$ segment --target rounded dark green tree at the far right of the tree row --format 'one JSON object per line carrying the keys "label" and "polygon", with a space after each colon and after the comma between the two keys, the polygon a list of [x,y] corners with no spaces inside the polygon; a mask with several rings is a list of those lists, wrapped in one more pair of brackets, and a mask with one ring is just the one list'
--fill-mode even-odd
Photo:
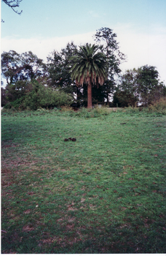
{"label": "rounded dark green tree at the far right of the tree row", "polygon": [[159,81],[159,72],[156,67],[145,65],[138,69],[127,70],[119,78],[113,105],[127,107],[140,103],[147,106],[160,97],[165,97],[165,85]]}

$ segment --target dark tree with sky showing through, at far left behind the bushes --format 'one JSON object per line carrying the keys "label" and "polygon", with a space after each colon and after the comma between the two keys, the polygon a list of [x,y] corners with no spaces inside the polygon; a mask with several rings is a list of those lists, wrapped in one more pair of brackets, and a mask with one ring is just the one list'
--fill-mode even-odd
{"label": "dark tree with sky showing through, at far left behind the bushes", "polygon": [[18,54],[14,50],[1,54],[1,74],[7,80],[4,94],[8,102],[15,101],[31,91],[29,81],[46,83],[47,66],[31,51]]}

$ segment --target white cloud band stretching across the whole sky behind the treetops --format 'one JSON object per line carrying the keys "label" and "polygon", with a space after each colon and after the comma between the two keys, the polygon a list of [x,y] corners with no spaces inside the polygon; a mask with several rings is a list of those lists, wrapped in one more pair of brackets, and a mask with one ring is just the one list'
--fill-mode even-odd
{"label": "white cloud band stretching across the whole sky behind the treetops", "polygon": [[[121,65],[122,72],[126,69],[133,69],[143,65],[157,67],[160,79],[166,83],[166,32],[165,28],[154,28],[154,34],[143,34],[136,32],[130,24],[118,25],[114,28],[117,34],[120,50],[127,55],[127,62]],[[94,43],[92,35],[95,31],[87,34],[76,34],[70,37],[53,38],[31,38],[31,39],[12,39],[9,37],[1,39],[1,52],[15,50],[23,53],[31,50],[39,58],[47,61],[47,56],[53,51],[60,51],[65,48],[68,42],[73,41],[76,45],[86,42]]]}

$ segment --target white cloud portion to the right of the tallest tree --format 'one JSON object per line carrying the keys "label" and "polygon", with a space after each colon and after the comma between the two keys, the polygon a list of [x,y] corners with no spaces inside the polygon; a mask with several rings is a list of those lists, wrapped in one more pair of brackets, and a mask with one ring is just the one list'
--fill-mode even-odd
{"label": "white cloud portion to the right of the tallest tree", "polygon": [[115,30],[120,50],[127,55],[123,71],[148,64],[157,67],[160,79],[166,84],[166,29],[155,27],[154,34],[138,33],[130,25]]}

